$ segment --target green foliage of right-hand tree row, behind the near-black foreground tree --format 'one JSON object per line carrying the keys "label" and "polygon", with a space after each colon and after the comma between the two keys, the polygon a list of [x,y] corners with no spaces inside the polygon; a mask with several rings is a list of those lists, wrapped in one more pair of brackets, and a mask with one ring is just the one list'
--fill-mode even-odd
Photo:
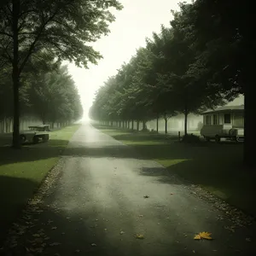
{"label": "green foliage of right-hand tree row, behind the near-black foreground tree", "polygon": [[[192,5],[180,6],[171,27],[161,26],[160,34],[147,38],[146,47],[137,49],[98,91],[91,118],[147,121],[183,113],[187,119],[189,113],[224,103],[219,86],[207,81],[206,68],[198,61],[193,26],[188,26]],[[186,125],[184,129],[186,133]]]}

